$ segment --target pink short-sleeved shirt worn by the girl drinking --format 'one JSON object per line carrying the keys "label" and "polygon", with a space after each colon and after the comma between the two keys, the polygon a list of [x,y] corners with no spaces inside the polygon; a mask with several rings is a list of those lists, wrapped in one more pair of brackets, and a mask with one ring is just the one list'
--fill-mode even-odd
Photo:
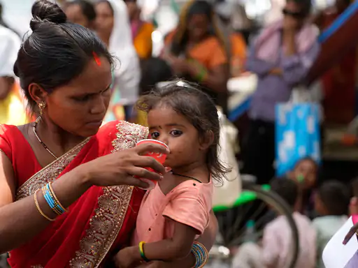
{"label": "pink short-sleeved shirt worn by the girl drinking", "polygon": [[132,244],[173,237],[174,221],[189,225],[202,234],[209,223],[212,198],[211,181],[208,184],[194,180],[184,181],[167,195],[164,195],[157,184],[143,198]]}

